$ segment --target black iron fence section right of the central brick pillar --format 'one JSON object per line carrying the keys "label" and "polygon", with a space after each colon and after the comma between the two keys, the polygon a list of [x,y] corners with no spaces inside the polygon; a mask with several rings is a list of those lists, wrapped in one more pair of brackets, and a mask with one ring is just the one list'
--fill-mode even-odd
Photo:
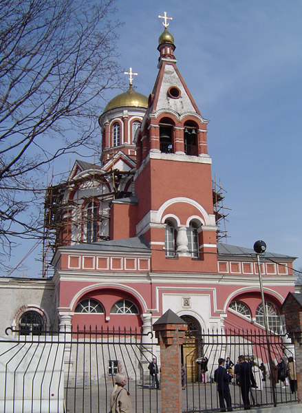
{"label": "black iron fence section right of the central brick pillar", "polygon": [[[234,368],[239,355],[244,355],[252,366],[252,372],[257,387],[251,388],[249,393],[251,407],[279,405],[281,403],[297,403],[296,392],[291,391],[288,377],[280,380],[281,358],[288,363],[288,357],[294,359],[294,346],[286,335],[269,334],[246,330],[228,330],[227,332],[187,332],[182,348],[183,364],[187,372],[186,392],[183,396],[183,412],[210,412],[220,411],[219,397],[214,372],[218,367],[218,359],[230,357],[233,362],[230,373],[230,394],[233,410],[243,409],[241,389],[238,377],[235,377]],[[192,348],[192,340],[198,343]],[[272,363],[270,363],[269,350]],[[200,361],[208,359],[206,383],[202,382]],[[263,363],[263,364],[261,364]],[[279,364],[279,368],[278,365]],[[279,379],[278,379],[279,370]],[[194,372],[198,372],[197,377]],[[271,379],[272,377],[272,379]],[[184,392],[183,392],[184,393]]]}

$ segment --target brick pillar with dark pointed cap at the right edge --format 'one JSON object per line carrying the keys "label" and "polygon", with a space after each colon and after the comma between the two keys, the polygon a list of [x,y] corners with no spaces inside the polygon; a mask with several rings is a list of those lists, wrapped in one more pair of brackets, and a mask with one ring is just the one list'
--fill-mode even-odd
{"label": "brick pillar with dark pointed cap at the right edge", "polygon": [[298,401],[302,403],[302,294],[288,293],[281,309],[285,315],[288,336],[294,344]]}

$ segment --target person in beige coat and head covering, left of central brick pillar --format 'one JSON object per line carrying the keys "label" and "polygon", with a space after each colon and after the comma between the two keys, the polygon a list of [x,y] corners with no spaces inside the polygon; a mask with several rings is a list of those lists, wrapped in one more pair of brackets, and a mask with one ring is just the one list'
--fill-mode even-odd
{"label": "person in beige coat and head covering, left of central brick pillar", "polygon": [[110,407],[112,413],[131,413],[130,393],[125,389],[127,378],[124,374],[116,374],[116,384],[111,393]]}

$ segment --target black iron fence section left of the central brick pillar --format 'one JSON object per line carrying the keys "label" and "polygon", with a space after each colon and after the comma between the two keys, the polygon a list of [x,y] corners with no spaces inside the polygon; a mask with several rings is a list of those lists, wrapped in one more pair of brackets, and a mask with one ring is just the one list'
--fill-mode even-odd
{"label": "black iron fence section left of the central brick pillar", "polygon": [[0,411],[107,413],[114,375],[122,372],[133,412],[158,413],[160,392],[151,390],[148,370],[153,349],[151,333],[138,331],[89,329],[2,337]]}

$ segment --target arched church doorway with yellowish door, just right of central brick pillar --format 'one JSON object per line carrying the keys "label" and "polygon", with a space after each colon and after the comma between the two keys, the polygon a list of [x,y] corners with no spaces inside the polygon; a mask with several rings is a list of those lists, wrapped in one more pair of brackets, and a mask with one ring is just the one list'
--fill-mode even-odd
{"label": "arched church doorway with yellowish door, just right of central brick pillar", "polygon": [[182,315],[181,318],[188,324],[182,345],[182,364],[186,368],[186,379],[188,382],[198,381],[199,365],[196,361],[203,356],[200,324],[190,315]]}

